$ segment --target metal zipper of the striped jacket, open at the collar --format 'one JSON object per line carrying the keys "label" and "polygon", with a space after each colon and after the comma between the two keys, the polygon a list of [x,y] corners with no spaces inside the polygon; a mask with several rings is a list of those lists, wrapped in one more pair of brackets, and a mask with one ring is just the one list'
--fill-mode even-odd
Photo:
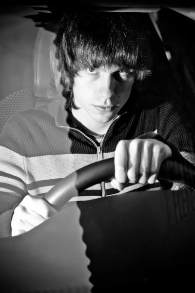
{"label": "metal zipper of the striped jacket, open at the collar", "polygon": [[[86,137],[94,146],[96,146],[97,148],[97,153],[98,153],[98,162],[103,160],[103,152],[102,152],[102,147],[103,147],[103,143],[105,141],[105,138],[111,128],[111,126],[113,125],[113,123],[118,120],[122,115],[124,115],[125,113],[127,112],[124,112],[123,114],[119,115],[118,117],[116,117],[112,123],[110,124],[110,126],[108,127],[106,133],[104,134],[104,137],[103,137],[103,140],[100,144],[100,146],[98,146],[89,136],[87,136],[84,132],[82,132],[81,130],[77,129],[77,128],[74,128],[74,127],[70,127],[70,126],[59,126],[59,127],[64,127],[64,128],[68,128],[68,129],[73,129],[73,130],[76,130],[78,131],[79,133],[81,133],[84,137]],[[105,187],[105,181],[102,181],[101,182],[101,196],[102,197],[106,197],[106,187]]]}

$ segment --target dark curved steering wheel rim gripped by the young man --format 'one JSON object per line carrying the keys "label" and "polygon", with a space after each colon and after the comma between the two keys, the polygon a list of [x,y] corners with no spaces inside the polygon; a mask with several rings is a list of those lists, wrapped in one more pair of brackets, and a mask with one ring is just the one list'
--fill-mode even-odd
{"label": "dark curved steering wheel rim gripped by the young man", "polygon": [[[57,209],[60,209],[75,194],[101,181],[111,180],[114,176],[114,158],[102,160],[82,167],[61,179],[45,194],[44,199]],[[179,161],[172,158],[166,159],[161,164],[157,179],[171,182],[177,181],[180,184],[185,184],[186,190],[195,190],[195,166],[183,157]]]}

